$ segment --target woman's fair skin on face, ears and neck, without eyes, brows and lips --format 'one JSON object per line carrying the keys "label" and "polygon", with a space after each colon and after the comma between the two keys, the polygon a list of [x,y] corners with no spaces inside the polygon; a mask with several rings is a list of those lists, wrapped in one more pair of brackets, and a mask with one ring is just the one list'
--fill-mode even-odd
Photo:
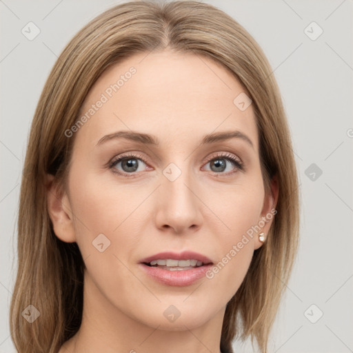
{"label": "woman's fair skin on face, ears and neck, without eyes, brows and lips", "polygon": [[[192,250],[218,263],[275,207],[276,183],[273,200],[263,187],[252,105],[241,111],[233,103],[244,92],[239,82],[218,63],[194,54],[146,55],[113,65],[94,84],[81,114],[131,66],[137,70],[75,132],[65,190],[48,185],[54,232],[62,241],[77,242],[86,266],[82,324],[59,353],[219,353],[225,305],[262,245],[259,236],[249,238],[212,279],[191,285],[159,283],[139,261]],[[121,130],[152,134],[159,145],[121,138],[97,145]],[[205,134],[226,130],[242,132],[252,145],[241,138],[201,144]],[[123,163],[110,169],[108,162],[125,152],[138,155],[130,157],[137,171]],[[245,168],[219,154],[240,159]],[[181,170],[174,181],[163,174],[170,163]],[[268,234],[271,223],[261,231]],[[103,252],[92,245],[99,234],[110,240]],[[180,312],[175,321],[163,314],[170,305]]]}

